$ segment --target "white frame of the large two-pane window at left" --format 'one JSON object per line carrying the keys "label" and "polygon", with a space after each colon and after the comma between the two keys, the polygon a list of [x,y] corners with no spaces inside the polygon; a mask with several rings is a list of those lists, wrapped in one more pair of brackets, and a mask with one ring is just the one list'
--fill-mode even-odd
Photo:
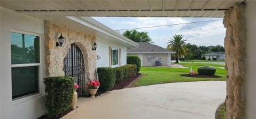
{"label": "white frame of the large two-pane window at left", "polygon": [[[38,66],[38,93],[31,93],[28,95],[24,95],[22,97],[17,97],[15,99],[12,99],[12,105],[22,103],[24,101],[28,101],[30,99],[35,99],[37,97],[43,96],[42,92],[42,80],[43,80],[43,35],[39,33],[32,33],[30,31],[22,31],[18,29],[11,29],[11,33],[20,33],[20,34],[25,34],[25,35],[34,35],[39,37],[39,63],[26,63],[26,64],[11,64],[11,67],[31,67],[31,66]],[[10,34],[11,35],[11,34]],[[11,41],[11,36],[10,36],[10,41]],[[11,44],[10,44],[11,46]],[[12,79],[11,79],[12,80]],[[12,86],[12,85],[11,85]]]}

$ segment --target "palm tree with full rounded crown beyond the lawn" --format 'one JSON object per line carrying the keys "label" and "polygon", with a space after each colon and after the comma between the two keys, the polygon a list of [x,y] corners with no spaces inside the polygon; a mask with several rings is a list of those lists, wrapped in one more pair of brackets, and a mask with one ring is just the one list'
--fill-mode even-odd
{"label": "palm tree with full rounded crown beyond the lawn", "polygon": [[173,50],[176,52],[176,63],[179,63],[178,58],[179,56],[186,56],[188,53],[188,48],[186,48],[186,40],[183,39],[183,35],[173,35],[173,39],[169,40],[167,45],[167,50]]}

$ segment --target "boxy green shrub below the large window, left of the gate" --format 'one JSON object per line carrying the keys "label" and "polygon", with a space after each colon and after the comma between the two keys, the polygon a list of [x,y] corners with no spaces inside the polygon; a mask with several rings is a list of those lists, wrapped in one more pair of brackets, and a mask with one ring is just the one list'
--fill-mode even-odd
{"label": "boxy green shrub below the large window, left of the gate", "polygon": [[73,99],[75,80],[68,76],[44,78],[45,108],[49,118],[69,109]]}

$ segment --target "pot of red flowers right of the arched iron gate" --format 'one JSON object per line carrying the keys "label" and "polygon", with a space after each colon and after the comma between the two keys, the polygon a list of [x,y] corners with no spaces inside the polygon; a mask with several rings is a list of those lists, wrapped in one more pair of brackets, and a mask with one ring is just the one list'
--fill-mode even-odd
{"label": "pot of red flowers right of the arched iron gate", "polygon": [[89,93],[91,94],[91,97],[94,98],[98,90],[98,86],[100,86],[100,82],[98,82],[98,80],[89,80],[89,83],[86,84],[86,86],[89,88]]}

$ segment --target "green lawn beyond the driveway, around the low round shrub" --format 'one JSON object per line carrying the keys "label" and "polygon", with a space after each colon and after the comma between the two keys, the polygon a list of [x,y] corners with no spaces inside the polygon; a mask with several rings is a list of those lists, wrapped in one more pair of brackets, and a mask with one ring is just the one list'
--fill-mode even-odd
{"label": "green lawn beyond the driveway, around the low round shrub", "polygon": [[[181,63],[179,63],[181,64]],[[186,63],[187,64],[187,63]],[[192,67],[193,71],[198,70],[205,64],[188,64],[186,67]],[[214,65],[214,64],[208,64]],[[223,66],[223,65],[222,65]],[[135,82],[135,86],[147,86],[152,84],[163,84],[169,82],[187,82],[187,81],[203,81],[203,80],[226,80],[226,70],[221,68],[217,69],[215,75],[223,76],[222,78],[190,78],[180,76],[181,74],[188,74],[190,68],[171,68],[171,67],[141,67],[140,73],[142,77]]]}

